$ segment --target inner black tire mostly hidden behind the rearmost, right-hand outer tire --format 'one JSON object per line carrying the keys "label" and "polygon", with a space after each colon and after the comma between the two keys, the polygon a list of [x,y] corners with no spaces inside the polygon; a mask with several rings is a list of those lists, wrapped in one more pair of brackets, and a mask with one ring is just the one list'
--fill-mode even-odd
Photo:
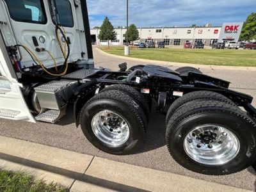
{"label": "inner black tire mostly hidden behind the rearmost, right-hand outer tire", "polygon": [[198,92],[187,93],[182,97],[180,97],[179,99],[175,100],[170,106],[170,108],[168,109],[168,112],[166,114],[166,125],[168,124],[173,113],[177,111],[177,109],[181,108],[184,105],[188,105],[190,102],[193,102],[195,100],[218,100],[218,101],[227,102],[228,104],[236,106],[236,104],[234,104],[232,100],[228,99],[224,95],[221,95],[220,93],[209,92],[209,91],[198,91]]}

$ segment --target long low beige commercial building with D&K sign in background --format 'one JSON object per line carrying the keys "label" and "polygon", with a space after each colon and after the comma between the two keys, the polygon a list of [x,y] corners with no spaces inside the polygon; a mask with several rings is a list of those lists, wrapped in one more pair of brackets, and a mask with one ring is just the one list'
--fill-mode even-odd
{"label": "long low beige commercial building with D&K sign in background", "polygon": [[[234,23],[232,23],[234,24]],[[165,45],[184,45],[186,42],[203,42],[206,46],[212,45],[215,42],[234,40],[238,41],[241,30],[236,33],[236,36],[230,35],[232,31],[223,31],[227,29],[228,24],[223,26],[209,27],[173,27],[173,28],[138,28],[140,33],[139,42],[161,42]],[[241,24],[239,24],[240,28]],[[239,28],[238,28],[239,29]],[[222,31],[221,31],[222,30]],[[125,43],[126,28],[116,28],[116,40],[110,42],[111,45],[123,45]],[[91,29],[92,42],[97,45],[107,45],[107,41],[99,40],[100,29]],[[227,37],[220,34],[228,33]],[[237,32],[237,31],[236,31]],[[238,38],[237,38],[238,35]]]}

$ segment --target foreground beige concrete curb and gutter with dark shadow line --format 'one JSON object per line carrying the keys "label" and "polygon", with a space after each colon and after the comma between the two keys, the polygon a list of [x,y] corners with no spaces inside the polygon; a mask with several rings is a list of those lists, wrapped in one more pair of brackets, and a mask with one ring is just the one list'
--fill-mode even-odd
{"label": "foreground beige concrete curb and gutter with dark shadow line", "polygon": [[71,191],[246,191],[4,136],[0,168],[59,182]]}

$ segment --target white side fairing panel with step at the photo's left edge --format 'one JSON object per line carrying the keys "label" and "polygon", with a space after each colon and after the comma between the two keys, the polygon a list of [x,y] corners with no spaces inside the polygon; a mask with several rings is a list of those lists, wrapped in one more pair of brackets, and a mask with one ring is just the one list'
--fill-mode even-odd
{"label": "white side fairing panel with step at the photo's left edge", "polygon": [[0,118],[35,122],[20,91],[22,84],[16,78],[0,33]]}

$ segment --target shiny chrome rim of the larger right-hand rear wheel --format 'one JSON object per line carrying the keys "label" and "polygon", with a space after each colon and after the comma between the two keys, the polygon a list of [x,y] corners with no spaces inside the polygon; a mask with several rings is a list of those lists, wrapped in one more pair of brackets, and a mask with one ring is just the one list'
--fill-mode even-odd
{"label": "shiny chrome rim of the larger right-hand rear wheel", "polygon": [[202,125],[184,139],[184,150],[198,163],[221,165],[237,156],[240,143],[237,136],[225,127]]}

